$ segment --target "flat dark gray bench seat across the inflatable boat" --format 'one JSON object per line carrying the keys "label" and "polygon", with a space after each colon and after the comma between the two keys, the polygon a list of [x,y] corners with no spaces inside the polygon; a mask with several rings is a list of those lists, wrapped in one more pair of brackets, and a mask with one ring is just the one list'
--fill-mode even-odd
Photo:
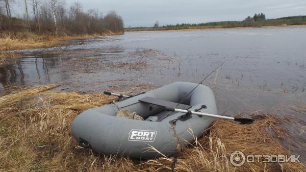
{"label": "flat dark gray bench seat across the inflatable boat", "polygon": [[179,106],[176,107],[178,103],[165,101],[162,99],[156,99],[154,97],[144,97],[138,101],[143,102],[143,103],[152,104],[152,105],[157,105],[157,106],[169,107],[169,108],[177,108],[177,109],[185,109],[185,110],[191,108],[191,106],[184,105],[184,104],[180,104]]}

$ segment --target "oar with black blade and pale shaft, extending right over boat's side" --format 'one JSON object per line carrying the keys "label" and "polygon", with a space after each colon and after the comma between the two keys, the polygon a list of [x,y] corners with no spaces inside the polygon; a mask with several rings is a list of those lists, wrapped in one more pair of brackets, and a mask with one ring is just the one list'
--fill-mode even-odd
{"label": "oar with black blade and pale shaft, extending right over boat's side", "polygon": [[248,118],[234,118],[230,116],[214,115],[214,114],[209,114],[209,113],[195,112],[195,111],[190,111],[190,110],[183,110],[183,109],[176,109],[176,108],[169,108],[169,107],[166,107],[166,109],[169,111],[175,111],[175,112],[191,113],[194,115],[202,115],[202,116],[210,116],[210,117],[221,118],[221,119],[235,120],[235,121],[240,122],[240,124],[250,124],[254,121],[254,119],[248,119]]}

